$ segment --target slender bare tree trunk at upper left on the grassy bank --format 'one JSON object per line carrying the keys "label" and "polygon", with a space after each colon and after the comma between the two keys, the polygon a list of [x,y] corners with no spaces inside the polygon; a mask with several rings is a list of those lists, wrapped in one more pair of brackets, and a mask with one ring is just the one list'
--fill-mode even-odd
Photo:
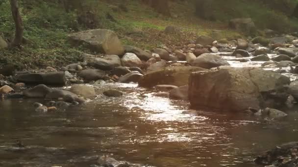
{"label": "slender bare tree trunk at upper left on the grassy bank", "polygon": [[24,25],[19,11],[18,1],[10,0],[10,5],[12,17],[16,26],[15,38],[11,42],[11,46],[20,46],[23,41]]}

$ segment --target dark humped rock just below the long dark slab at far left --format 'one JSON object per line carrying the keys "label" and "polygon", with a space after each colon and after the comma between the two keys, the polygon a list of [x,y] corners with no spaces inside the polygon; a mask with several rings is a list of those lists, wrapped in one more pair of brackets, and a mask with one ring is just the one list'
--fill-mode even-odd
{"label": "dark humped rock just below the long dark slab at far left", "polygon": [[24,90],[23,94],[25,97],[29,98],[44,98],[48,93],[50,93],[52,90],[44,85],[44,84],[39,84],[32,89]]}

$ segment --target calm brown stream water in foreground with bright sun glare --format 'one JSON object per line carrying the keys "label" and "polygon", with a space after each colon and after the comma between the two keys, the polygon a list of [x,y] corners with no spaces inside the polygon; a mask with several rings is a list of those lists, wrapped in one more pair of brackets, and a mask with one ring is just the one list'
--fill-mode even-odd
{"label": "calm brown stream water in foreground with bright sun glare", "polygon": [[[104,84],[121,98],[37,113],[37,99],[0,102],[1,167],[89,167],[111,155],[136,167],[257,167],[253,157],[298,141],[298,112],[281,120],[246,114],[184,114],[189,104],[136,84]],[[16,146],[21,140],[25,147]]]}

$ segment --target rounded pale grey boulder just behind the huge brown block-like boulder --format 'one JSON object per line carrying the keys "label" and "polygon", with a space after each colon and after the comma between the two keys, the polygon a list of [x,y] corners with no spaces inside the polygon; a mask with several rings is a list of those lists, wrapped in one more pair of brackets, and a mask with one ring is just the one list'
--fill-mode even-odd
{"label": "rounded pale grey boulder just behind the huge brown block-like boulder", "polygon": [[197,57],[191,65],[210,69],[221,65],[229,65],[229,63],[218,55],[204,53]]}

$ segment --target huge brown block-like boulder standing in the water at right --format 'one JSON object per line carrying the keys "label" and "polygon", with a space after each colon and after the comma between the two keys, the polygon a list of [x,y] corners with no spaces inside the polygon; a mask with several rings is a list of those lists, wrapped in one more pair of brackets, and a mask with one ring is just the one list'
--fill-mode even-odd
{"label": "huge brown block-like boulder standing in the water at right", "polygon": [[[261,68],[220,67],[191,74],[189,100],[194,108],[244,111],[286,102],[290,79]],[[272,102],[272,103],[269,103]]]}

